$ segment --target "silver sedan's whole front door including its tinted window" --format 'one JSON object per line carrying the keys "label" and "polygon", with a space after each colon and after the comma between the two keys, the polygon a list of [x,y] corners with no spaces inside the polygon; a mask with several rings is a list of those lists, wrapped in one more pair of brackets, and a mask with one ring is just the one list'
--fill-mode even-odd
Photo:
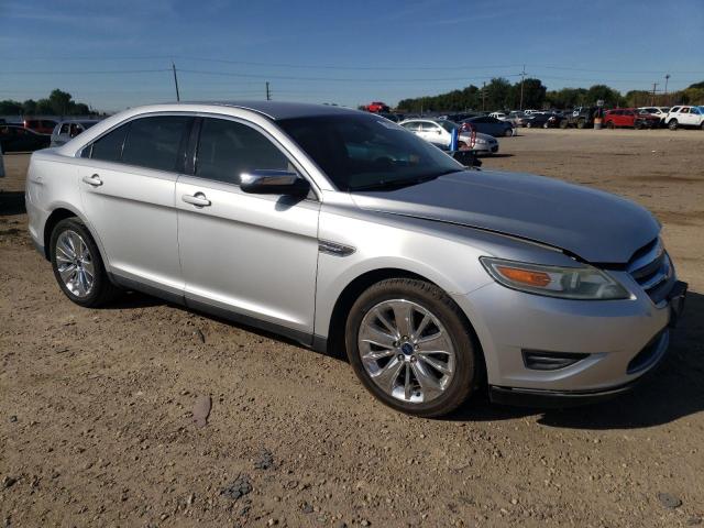
{"label": "silver sedan's whole front door including its tinted window", "polygon": [[176,184],[186,301],[307,340],[314,324],[320,204],[312,195],[242,191],[242,173],[267,168],[300,173],[250,123],[202,119],[194,175]]}

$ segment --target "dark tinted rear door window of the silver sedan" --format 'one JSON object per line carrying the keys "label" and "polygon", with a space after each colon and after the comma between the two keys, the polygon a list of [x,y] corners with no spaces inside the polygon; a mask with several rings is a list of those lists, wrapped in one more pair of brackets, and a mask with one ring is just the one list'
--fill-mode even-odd
{"label": "dark tinted rear door window of the silver sedan", "polygon": [[130,123],[122,162],[157,170],[177,170],[178,152],[190,131],[193,118],[160,116]]}

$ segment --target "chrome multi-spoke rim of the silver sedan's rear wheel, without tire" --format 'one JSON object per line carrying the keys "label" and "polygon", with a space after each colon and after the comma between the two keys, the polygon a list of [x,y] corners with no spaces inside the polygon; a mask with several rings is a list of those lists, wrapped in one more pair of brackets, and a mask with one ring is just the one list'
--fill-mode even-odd
{"label": "chrome multi-spoke rim of the silver sedan's rear wheel, without tire", "polygon": [[96,272],[88,244],[76,231],[67,229],[56,241],[56,268],[64,286],[76,297],[92,292]]}

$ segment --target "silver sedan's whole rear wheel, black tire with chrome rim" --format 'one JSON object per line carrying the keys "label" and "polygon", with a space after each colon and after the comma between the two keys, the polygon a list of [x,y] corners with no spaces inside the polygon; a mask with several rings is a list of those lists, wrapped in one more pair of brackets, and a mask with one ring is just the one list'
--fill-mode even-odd
{"label": "silver sedan's whole rear wheel, black tire with chrome rim", "polygon": [[[77,305],[96,308],[118,294],[119,289],[108,278],[96,242],[78,218],[66,218],[54,227],[50,251],[58,286]],[[75,278],[72,280],[72,277]]]}

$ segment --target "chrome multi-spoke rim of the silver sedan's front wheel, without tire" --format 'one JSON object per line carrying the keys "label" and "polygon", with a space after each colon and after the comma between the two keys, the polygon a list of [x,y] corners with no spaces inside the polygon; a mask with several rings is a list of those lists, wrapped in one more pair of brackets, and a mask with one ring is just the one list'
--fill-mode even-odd
{"label": "chrome multi-spoke rim of the silver sedan's front wheel, without tire", "polygon": [[440,397],[454,376],[457,354],[439,318],[406,299],[378,302],[360,324],[364,370],[387,395],[409,404]]}

